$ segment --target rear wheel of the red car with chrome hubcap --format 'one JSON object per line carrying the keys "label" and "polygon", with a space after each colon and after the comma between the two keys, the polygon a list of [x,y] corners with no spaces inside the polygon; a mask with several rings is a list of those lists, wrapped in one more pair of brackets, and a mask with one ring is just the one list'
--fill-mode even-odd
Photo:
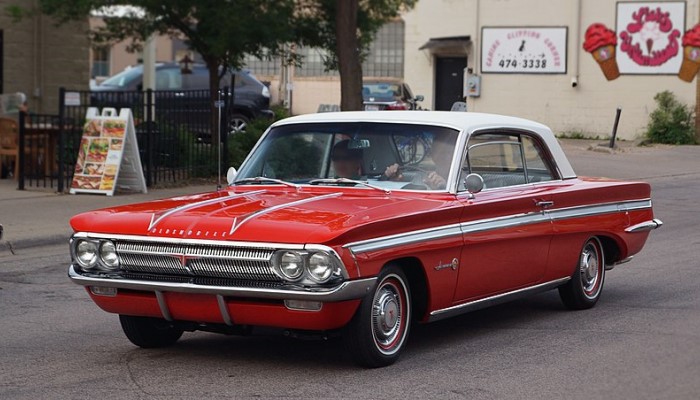
{"label": "rear wheel of the red car with chrome hubcap", "polygon": [[598,238],[583,245],[576,270],[565,285],[559,287],[564,305],[572,310],[593,307],[600,298],[605,281],[605,255]]}

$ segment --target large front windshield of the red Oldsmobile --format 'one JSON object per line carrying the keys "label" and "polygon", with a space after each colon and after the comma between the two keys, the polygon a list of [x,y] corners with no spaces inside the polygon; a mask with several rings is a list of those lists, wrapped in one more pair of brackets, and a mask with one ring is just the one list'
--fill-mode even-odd
{"label": "large front windshield of the red Oldsmobile", "polygon": [[[458,131],[404,123],[309,123],[270,130],[237,182],[351,185],[444,190]],[[358,185],[359,186],[359,185]]]}

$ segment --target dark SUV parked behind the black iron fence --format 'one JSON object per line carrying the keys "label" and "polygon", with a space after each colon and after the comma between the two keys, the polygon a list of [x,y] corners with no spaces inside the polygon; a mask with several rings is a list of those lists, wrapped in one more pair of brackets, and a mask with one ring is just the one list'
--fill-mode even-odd
{"label": "dark SUV parked behind the black iron fence", "polygon": [[[191,90],[209,89],[209,70],[203,64],[194,64],[190,67],[191,73],[183,74],[181,67],[177,63],[163,63],[156,65],[157,91],[165,91],[161,101],[164,107],[168,105],[168,111],[172,114],[170,120],[191,125],[193,120],[199,122],[197,126],[208,126],[208,117],[194,118],[193,113],[200,110],[209,110],[209,99],[206,96],[194,96],[188,94]],[[233,79],[232,79],[233,77]],[[231,85],[233,81],[233,85]],[[258,117],[272,117],[270,108],[270,90],[260,82],[254,75],[244,71],[233,71],[226,73],[220,82],[220,87],[232,86],[234,102],[231,112],[228,115],[229,133],[243,131],[250,120]],[[128,102],[134,101],[119,96],[109,96],[106,92],[140,92],[143,90],[143,65],[129,67],[124,71],[108,78],[104,82],[92,88],[93,104],[98,106],[128,107]],[[169,93],[174,92],[174,93]],[[99,93],[105,93],[100,95]],[[189,92],[192,93],[192,92]],[[173,96],[174,94],[174,96]],[[173,107],[173,100],[178,103]],[[110,104],[117,103],[117,104]],[[156,112],[162,110],[156,99]],[[163,110],[165,111],[165,110]],[[184,111],[184,112],[183,112]],[[199,113],[204,114],[204,113]],[[202,121],[199,121],[202,119]],[[204,123],[202,123],[204,122]],[[199,129],[193,129],[199,130]],[[198,132],[202,133],[202,132]]]}

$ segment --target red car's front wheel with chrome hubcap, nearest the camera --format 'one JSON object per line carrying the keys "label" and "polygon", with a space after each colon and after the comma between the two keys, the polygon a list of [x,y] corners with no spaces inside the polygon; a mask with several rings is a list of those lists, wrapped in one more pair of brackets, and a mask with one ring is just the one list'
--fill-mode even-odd
{"label": "red car's front wheel with chrome hubcap, nearest the camera", "polygon": [[374,291],[362,299],[343,335],[350,355],[369,368],[396,362],[411,324],[411,293],[406,275],[390,266],[377,282]]}

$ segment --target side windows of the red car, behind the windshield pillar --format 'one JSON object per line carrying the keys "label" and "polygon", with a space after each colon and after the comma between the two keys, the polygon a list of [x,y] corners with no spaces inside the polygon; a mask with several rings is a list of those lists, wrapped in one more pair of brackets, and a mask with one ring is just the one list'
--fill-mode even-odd
{"label": "side windows of the red car, behind the windshield pillar", "polygon": [[472,136],[462,165],[460,189],[464,188],[463,177],[469,173],[481,175],[486,189],[554,179],[542,145],[531,136],[517,133]]}

